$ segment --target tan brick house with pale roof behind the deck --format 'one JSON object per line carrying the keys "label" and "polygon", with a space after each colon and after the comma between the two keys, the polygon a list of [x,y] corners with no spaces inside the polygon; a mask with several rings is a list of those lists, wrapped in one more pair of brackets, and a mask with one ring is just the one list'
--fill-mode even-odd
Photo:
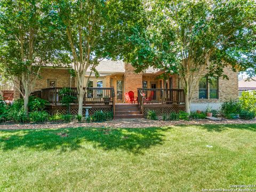
{"label": "tan brick house with pale roof behind the deck", "polygon": [[[69,74],[69,69],[68,67],[43,67],[40,73],[41,78],[37,79],[35,83],[35,93],[41,92],[40,95],[42,96],[43,93],[44,99],[52,99],[50,100],[53,105],[49,109],[51,113],[54,113],[54,110],[57,110],[57,108],[61,108],[61,105],[58,105],[58,90],[56,87],[60,89],[61,87],[76,86],[75,79]],[[127,108],[127,105],[122,106],[121,103],[126,102],[125,93],[129,91],[133,91],[134,96],[138,97],[139,107],[137,105],[133,106],[141,111],[141,113],[137,114],[138,117],[145,115],[148,110],[155,110],[159,115],[185,110],[183,90],[177,75],[170,75],[167,79],[162,79],[160,75],[163,72],[153,68],[137,74],[134,72],[131,64],[111,60],[101,61],[99,66],[97,66],[97,70],[100,76],[96,78],[95,74],[92,73],[88,84],[91,87],[90,89],[92,89],[90,92],[91,99],[89,98],[89,93],[85,94],[85,101],[95,101],[95,97],[98,97],[97,101],[99,102],[85,102],[86,105],[92,105],[95,108],[94,110],[114,109],[114,113],[115,111],[124,112],[125,110],[119,109],[119,107]],[[218,109],[224,100],[238,98],[238,74],[231,70],[231,68],[225,68],[224,73],[229,77],[229,80],[222,78],[201,79],[191,101],[192,111],[205,110],[207,106],[212,107],[212,109]],[[87,71],[85,78],[88,78],[89,75],[90,71]],[[94,90],[93,87],[97,90]],[[107,90],[110,87],[111,90]],[[95,93],[92,97],[91,93],[93,91]],[[109,91],[113,92],[111,94],[113,95],[111,105],[101,105],[103,104],[102,98],[109,95]],[[143,92],[143,102],[141,101],[141,92]],[[19,93],[15,91],[14,98],[17,97],[19,97]],[[129,108],[133,110],[132,105],[129,105]],[[91,110],[91,113],[94,110]],[[76,109],[74,106],[75,113]],[[123,114],[121,113],[121,115]],[[135,116],[135,114],[133,115]]]}

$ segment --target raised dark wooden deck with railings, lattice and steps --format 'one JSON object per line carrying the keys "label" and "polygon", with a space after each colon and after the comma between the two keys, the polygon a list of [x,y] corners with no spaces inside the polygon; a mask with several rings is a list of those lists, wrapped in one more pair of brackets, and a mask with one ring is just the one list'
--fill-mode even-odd
{"label": "raised dark wooden deck with railings, lattice and steps", "polygon": [[[42,89],[34,92],[33,95],[50,102],[50,105],[46,107],[50,114],[65,114],[67,109],[61,105],[61,95],[59,94],[61,89],[62,87]],[[71,88],[70,94],[77,97],[75,87]],[[84,95],[83,106],[92,107],[89,110],[90,115],[97,110],[102,110],[113,111],[114,117],[119,115],[119,117],[125,118],[125,114],[127,114],[126,117],[141,118],[145,117],[149,110],[155,110],[157,115],[178,113],[185,110],[185,95],[181,89],[138,89],[137,104],[115,103],[114,88],[89,87]],[[134,110],[130,111],[129,109],[132,108]],[[121,113],[119,113],[120,111]],[[76,115],[77,112],[78,104],[76,100],[75,103],[70,105],[70,113]]]}

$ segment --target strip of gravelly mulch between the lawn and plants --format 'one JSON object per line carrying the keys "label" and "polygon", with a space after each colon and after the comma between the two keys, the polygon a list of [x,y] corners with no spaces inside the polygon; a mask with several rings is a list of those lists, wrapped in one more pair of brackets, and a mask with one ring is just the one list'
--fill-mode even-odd
{"label": "strip of gravelly mulch between the lawn and plants", "polygon": [[[145,128],[145,127],[161,127],[171,125],[205,125],[205,124],[256,124],[256,119],[222,119],[221,121],[212,121],[210,119],[194,120],[194,121],[153,121],[150,119],[116,119],[102,123],[44,123],[44,124],[3,124],[0,130],[19,130],[19,129],[60,129],[67,127],[97,127],[97,128]],[[107,131],[106,131],[107,132]],[[65,135],[66,136],[66,135]],[[67,137],[67,136],[66,136]]]}

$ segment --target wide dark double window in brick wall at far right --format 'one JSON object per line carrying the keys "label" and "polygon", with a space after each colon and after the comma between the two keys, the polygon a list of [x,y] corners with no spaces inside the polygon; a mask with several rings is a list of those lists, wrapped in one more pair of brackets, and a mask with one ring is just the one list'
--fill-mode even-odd
{"label": "wide dark double window in brick wall at far right", "polygon": [[[203,77],[199,81],[199,99],[218,99],[219,81],[216,77]],[[209,92],[208,92],[209,90]],[[209,96],[208,96],[209,93]]]}

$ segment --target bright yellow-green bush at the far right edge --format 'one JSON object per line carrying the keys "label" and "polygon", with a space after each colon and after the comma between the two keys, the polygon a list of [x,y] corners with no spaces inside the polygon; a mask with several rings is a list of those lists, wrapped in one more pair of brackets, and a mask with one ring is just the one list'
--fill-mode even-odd
{"label": "bright yellow-green bush at the far right edge", "polygon": [[239,98],[239,102],[243,110],[256,114],[256,91],[243,92]]}

